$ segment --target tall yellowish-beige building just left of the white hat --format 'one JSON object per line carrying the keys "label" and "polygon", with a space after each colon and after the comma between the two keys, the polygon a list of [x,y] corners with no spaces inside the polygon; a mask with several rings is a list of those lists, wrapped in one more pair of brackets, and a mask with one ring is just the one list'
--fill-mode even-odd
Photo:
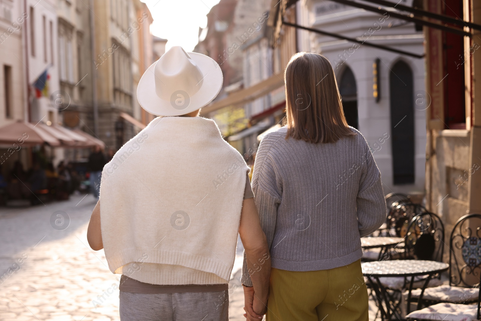
{"label": "tall yellowish-beige building just left of the white hat", "polygon": [[[134,47],[138,46],[134,37],[139,37],[139,32],[148,27],[145,22],[151,21],[151,14],[146,8],[137,10],[139,5],[129,0],[93,3],[97,136],[108,148],[117,150],[138,130],[129,121],[134,114],[134,101],[137,100],[132,78],[132,60],[136,58]],[[136,59],[141,61],[139,57]],[[94,116],[95,108],[90,123],[94,122]]]}

